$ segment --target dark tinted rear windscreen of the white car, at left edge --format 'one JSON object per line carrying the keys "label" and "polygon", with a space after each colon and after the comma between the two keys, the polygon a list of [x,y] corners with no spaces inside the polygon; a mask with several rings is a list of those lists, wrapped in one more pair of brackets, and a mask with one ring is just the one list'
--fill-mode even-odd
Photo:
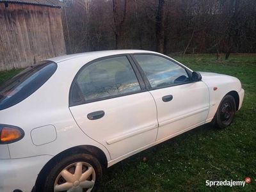
{"label": "dark tinted rear windscreen of the white car, at left edge", "polygon": [[56,63],[41,61],[1,84],[0,110],[10,108],[29,97],[54,74],[56,69]]}

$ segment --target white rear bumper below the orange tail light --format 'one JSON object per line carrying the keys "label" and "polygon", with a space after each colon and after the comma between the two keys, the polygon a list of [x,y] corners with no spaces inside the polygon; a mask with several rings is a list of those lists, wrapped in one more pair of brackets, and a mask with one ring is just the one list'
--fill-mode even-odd
{"label": "white rear bumper below the orange tail light", "polygon": [[0,159],[0,191],[31,191],[36,178],[52,156]]}

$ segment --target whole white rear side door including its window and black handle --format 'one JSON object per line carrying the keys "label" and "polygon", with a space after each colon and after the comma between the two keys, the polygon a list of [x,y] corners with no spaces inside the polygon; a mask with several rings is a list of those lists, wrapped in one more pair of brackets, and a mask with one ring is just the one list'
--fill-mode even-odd
{"label": "whole white rear side door including its window and black handle", "polygon": [[109,151],[111,159],[156,141],[157,111],[129,56],[84,65],[70,88],[77,124]]}

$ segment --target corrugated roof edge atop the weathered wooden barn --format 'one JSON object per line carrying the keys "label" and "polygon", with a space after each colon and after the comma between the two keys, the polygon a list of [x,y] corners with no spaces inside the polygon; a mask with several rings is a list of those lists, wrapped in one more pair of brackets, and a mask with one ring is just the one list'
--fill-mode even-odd
{"label": "corrugated roof edge atop the weathered wooden barn", "polygon": [[51,6],[56,8],[61,7],[61,2],[58,0],[0,0],[0,3],[35,4],[40,6]]}

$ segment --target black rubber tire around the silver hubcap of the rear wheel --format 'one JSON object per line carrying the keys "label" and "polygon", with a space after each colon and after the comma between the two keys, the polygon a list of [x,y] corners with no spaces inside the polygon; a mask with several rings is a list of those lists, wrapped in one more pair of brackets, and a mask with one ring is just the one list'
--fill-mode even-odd
{"label": "black rubber tire around the silver hubcap of the rear wheel", "polygon": [[[36,191],[42,192],[53,192],[55,180],[57,179],[60,172],[67,168],[70,164],[74,164],[76,162],[84,162],[90,164],[95,171],[95,183],[92,188],[92,191],[97,190],[97,187],[100,184],[102,179],[102,166],[99,163],[98,159],[93,157],[91,154],[70,154],[70,156],[63,157],[61,159],[56,159],[56,163],[52,164],[52,167],[45,177],[44,181],[41,182],[42,186],[40,189],[36,188]],[[93,172],[94,173],[94,172]],[[61,178],[63,180],[63,178]],[[65,182],[65,179],[64,181]]]}

